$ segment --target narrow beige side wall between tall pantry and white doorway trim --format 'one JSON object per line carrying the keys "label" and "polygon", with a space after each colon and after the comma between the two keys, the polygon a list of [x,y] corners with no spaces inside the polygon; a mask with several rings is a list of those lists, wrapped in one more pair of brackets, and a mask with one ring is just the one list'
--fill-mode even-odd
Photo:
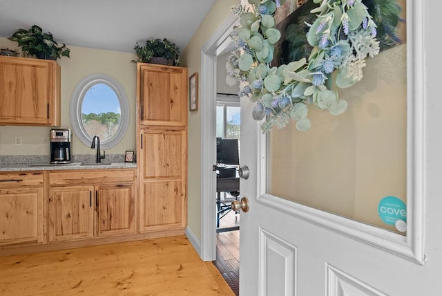
{"label": "narrow beige side wall between tall pantry and white doorway trim", "polygon": [[[180,63],[189,68],[189,75],[201,72],[201,48],[231,13],[231,6],[240,0],[217,0],[184,49]],[[201,79],[201,78],[200,78]],[[200,89],[198,90],[200,93]],[[199,100],[215,100],[201,98]],[[200,111],[189,113],[189,228],[201,239],[201,114]]]}

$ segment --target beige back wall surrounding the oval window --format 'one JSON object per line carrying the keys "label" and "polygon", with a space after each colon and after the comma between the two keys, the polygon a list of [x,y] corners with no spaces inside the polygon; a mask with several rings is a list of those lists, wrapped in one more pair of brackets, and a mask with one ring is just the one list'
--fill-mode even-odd
{"label": "beige back wall surrounding the oval window", "polygon": [[[17,49],[17,42],[0,37],[0,48]],[[122,84],[129,100],[131,119],[124,138],[106,154],[124,154],[135,150],[135,104],[136,104],[136,64],[131,63],[133,53],[110,50],[97,50],[69,46],[70,58],[61,57],[57,63],[61,67],[61,128],[72,129],[70,124],[70,96],[75,85],[84,77],[95,73],[111,75]],[[49,155],[49,145],[42,138],[49,136],[51,127],[0,127],[0,155]],[[14,146],[14,136],[23,137],[23,146]],[[90,146],[84,145],[73,135],[73,154],[95,154]]]}

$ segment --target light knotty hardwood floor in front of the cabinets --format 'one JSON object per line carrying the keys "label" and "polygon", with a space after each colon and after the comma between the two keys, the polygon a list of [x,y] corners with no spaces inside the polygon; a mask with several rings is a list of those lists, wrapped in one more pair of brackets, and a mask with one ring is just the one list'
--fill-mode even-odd
{"label": "light knotty hardwood floor in front of the cabinets", "polygon": [[0,295],[234,295],[186,237],[0,257]]}

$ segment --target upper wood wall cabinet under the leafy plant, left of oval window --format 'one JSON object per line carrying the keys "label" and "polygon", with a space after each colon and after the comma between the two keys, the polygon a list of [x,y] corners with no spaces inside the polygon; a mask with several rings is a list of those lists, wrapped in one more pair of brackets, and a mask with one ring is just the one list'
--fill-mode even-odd
{"label": "upper wood wall cabinet under the leafy plant, left of oval window", "polygon": [[60,126],[60,66],[0,56],[0,124]]}

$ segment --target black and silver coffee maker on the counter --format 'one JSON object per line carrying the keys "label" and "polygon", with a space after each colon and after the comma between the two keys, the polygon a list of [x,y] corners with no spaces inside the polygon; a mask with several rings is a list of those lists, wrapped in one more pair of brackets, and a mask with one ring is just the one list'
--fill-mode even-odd
{"label": "black and silver coffee maker on the counter", "polygon": [[72,163],[70,158],[71,140],[70,129],[50,130],[50,163]]}

